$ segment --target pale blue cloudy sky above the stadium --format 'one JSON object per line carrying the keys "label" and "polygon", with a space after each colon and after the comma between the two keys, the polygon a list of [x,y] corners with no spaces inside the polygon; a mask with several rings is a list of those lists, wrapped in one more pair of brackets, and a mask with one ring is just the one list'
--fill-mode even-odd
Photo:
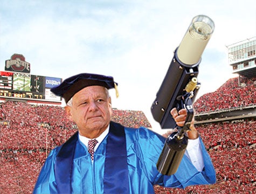
{"label": "pale blue cloudy sky above the stadium", "polygon": [[160,131],[150,107],[173,51],[197,15],[215,22],[199,66],[199,98],[237,77],[226,46],[256,36],[255,0],[1,0],[0,71],[17,53],[33,75],[111,75],[120,92],[116,99],[110,91],[113,107],[142,110]]}

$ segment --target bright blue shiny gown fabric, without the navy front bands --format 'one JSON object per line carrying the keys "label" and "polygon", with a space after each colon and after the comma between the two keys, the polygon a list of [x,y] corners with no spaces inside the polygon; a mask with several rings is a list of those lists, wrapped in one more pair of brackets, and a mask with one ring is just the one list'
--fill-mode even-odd
{"label": "bright blue shiny gown fabric, without the navy front bands", "polygon": [[[165,138],[146,128],[124,128],[126,134],[129,193],[154,193],[154,185],[171,188],[185,188],[195,184],[216,182],[215,169],[202,140],[204,170],[202,172],[184,155],[177,172],[164,176],[156,169]],[[79,140],[76,142],[73,160],[71,187],[73,193],[103,193],[103,172],[105,168],[107,136],[100,143],[91,161],[87,148]],[[60,147],[53,149],[39,174],[33,193],[58,193],[54,166]],[[122,180],[120,180],[121,182]]]}

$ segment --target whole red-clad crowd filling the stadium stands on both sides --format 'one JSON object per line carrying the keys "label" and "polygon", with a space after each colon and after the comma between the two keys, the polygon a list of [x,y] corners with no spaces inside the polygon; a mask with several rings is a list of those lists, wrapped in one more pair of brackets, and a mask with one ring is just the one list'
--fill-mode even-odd
{"label": "whole red-clad crowd filling the stadium stands on both sides", "polygon": [[[249,97],[255,96],[253,80],[243,79],[246,83],[244,87],[238,86],[236,80],[237,78],[230,79],[216,93],[199,98],[196,101],[196,111],[255,105],[255,99]],[[227,93],[230,96],[238,96],[239,93],[239,98],[246,99],[230,99],[227,98]],[[209,95],[210,99],[215,100],[206,100]],[[219,105],[222,100],[225,101],[225,106]],[[211,108],[207,109],[207,106]],[[113,109],[112,120],[127,127],[151,128],[141,111]],[[31,193],[46,156],[51,149],[64,143],[77,131],[76,126],[67,119],[63,107],[13,101],[0,103],[0,121],[8,121],[0,123],[1,193]],[[201,124],[197,128],[216,168],[217,183],[189,186],[184,190],[155,186],[155,192],[255,193],[255,118]]]}

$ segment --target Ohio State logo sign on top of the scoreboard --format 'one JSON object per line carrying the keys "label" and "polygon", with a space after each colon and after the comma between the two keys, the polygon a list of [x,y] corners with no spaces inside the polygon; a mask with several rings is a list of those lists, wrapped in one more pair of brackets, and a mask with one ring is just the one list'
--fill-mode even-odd
{"label": "Ohio State logo sign on top of the scoreboard", "polygon": [[11,59],[5,61],[5,71],[30,73],[30,63],[25,61],[22,54],[13,54]]}

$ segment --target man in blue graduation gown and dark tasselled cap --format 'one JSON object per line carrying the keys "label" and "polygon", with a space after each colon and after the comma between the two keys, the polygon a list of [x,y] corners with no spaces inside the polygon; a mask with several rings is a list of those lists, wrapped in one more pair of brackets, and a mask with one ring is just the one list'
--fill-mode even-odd
{"label": "man in blue graduation gown and dark tasselled cap", "polygon": [[[216,182],[211,159],[193,124],[177,172],[160,174],[156,163],[165,138],[144,127],[126,128],[110,121],[108,89],[116,85],[112,77],[81,73],[51,89],[65,99],[67,116],[78,132],[51,151],[33,193],[154,193],[155,184],[185,188]],[[178,126],[184,124],[185,109],[178,113],[172,109],[171,114]]]}

